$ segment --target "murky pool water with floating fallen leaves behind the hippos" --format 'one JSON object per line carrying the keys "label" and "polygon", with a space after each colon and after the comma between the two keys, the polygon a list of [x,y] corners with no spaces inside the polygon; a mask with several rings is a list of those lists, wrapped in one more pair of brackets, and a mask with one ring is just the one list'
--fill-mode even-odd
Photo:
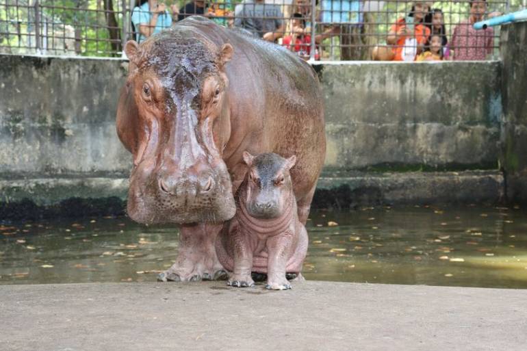
{"label": "murky pool water with floating fallen leaves behind the hippos", "polygon": [[[527,288],[527,211],[368,207],[317,211],[307,279]],[[175,226],[127,218],[0,225],[0,284],[155,281],[176,257]]]}

